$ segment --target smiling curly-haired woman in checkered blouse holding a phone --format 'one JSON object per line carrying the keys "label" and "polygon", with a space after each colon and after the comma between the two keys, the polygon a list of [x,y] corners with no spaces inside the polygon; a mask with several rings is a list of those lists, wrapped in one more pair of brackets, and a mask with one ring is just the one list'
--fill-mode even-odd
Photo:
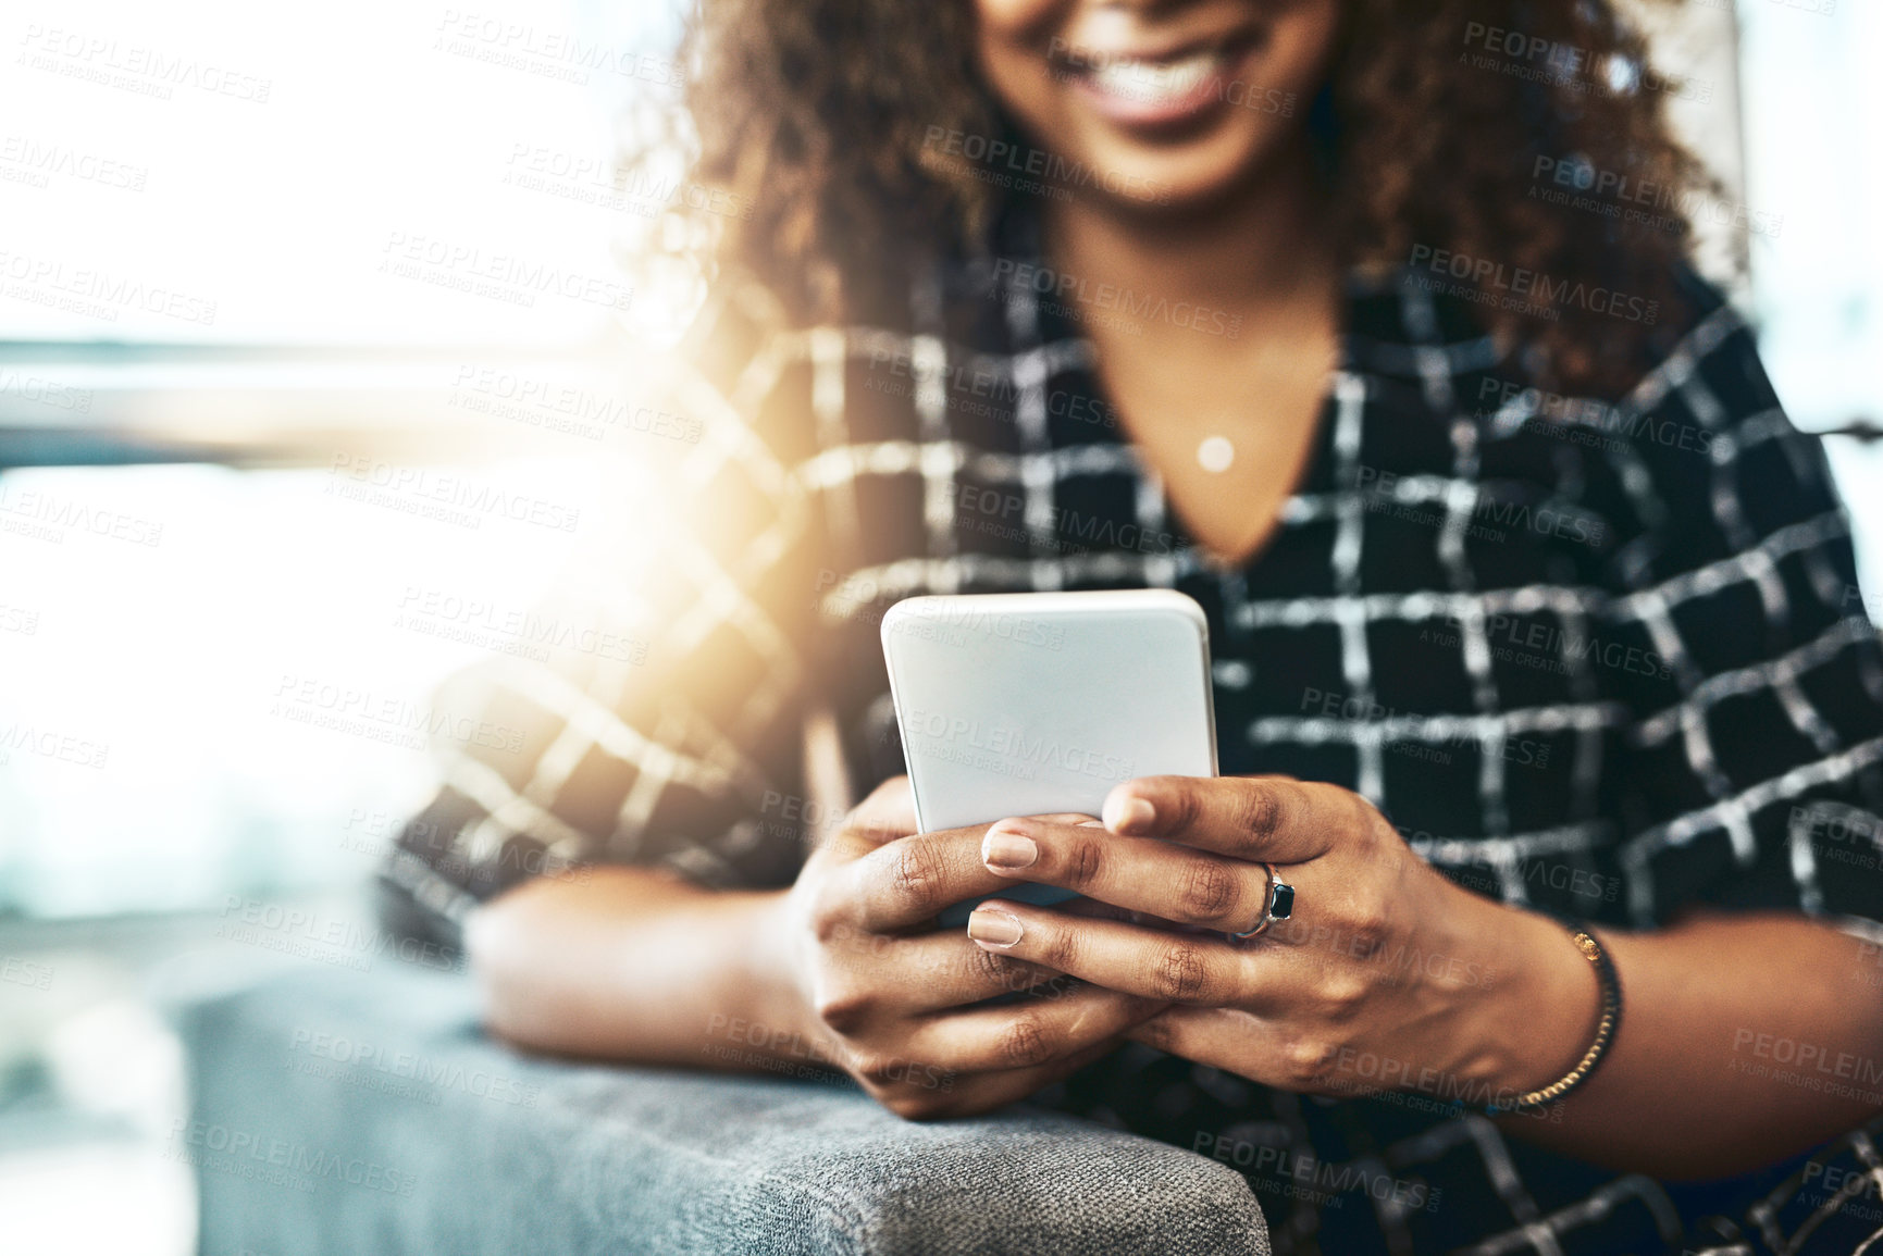
{"label": "smiling curly-haired woman in checkered blouse holding a phone", "polygon": [[[388,868],[495,1032],[1045,1088],[1280,1250],[1864,1243],[1883,665],[1749,333],[1584,194],[1698,179],[1614,6],[719,0],[693,51],[749,211],[685,217],[646,663],[497,676],[529,744]],[[915,834],[881,610],[1105,586],[1205,606],[1224,778]],[[1092,904],[934,928],[1022,881]]]}

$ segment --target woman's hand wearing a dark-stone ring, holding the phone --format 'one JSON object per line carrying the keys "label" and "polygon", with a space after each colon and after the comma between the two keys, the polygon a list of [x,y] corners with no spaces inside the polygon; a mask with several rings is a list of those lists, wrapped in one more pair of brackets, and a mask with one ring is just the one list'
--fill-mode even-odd
{"label": "woman's hand wearing a dark-stone ring, holding the phone", "polygon": [[[990,900],[968,923],[977,943],[1173,1002],[1132,1038],[1258,1083],[1510,1100],[1595,1032],[1595,974],[1557,923],[1454,885],[1335,785],[1139,778],[1111,791],[1103,827],[1004,819],[981,855],[1117,911]],[[1263,864],[1296,887],[1294,913],[1233,940],[1267,908]]]}

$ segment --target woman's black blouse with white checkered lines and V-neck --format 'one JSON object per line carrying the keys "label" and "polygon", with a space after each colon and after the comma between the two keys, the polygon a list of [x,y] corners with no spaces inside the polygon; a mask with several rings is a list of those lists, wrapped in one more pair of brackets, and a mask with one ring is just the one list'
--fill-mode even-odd
{"label": "woman's black blouse with white checkered lines and V-neck", "polygon": [[[806,727],[836,729],[855,797],[902,772],[889,604],[1160,586],[1209,616],[1226,774],[1350,787],[1506,902],[1623,926],[1781,908],[1883,940],[1877,633],[1821,450],[1710,290],[1625,397],[1563,399],[1422,277],[1356,281],[1305,480],[1222,571],[1077,331],[1156,311],[1060,305],[1004,262],[949,267],[872,328],[712,296],[670,380],[704,435],[633,539],[635,578],[589,589],[646,648],[475,678],[523,746],[446,748],[384,872],[405,926],[450,936],[586,862],[789,883],[815,829]],[[1442,1098],[1309,1100],[1143,1047],[1047,1100],[1235,1164],[1279,1252],[1849,1252],[1883,1230],[1875,1124],[1830,1173],[1698,1190]]]}

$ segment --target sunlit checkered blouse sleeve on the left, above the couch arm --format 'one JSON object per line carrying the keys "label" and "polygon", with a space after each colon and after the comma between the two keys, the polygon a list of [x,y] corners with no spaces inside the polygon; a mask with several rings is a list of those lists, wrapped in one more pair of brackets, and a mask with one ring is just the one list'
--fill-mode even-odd
{"label": "sunlit checkered blouse sleeve on the left, above the couch arm", "polygon": [[797,808],[768,804],[802,791],[813,623],[791,335],[763,290],[719,290],[663,369],[682,452],[539,608],[559,646],[439,695],[493,736],[439,748],[443,787],[380,870],[388,928],[456,943],[478,902],[597,862],[746,887],[797,872],[798,834],[772,819]]}

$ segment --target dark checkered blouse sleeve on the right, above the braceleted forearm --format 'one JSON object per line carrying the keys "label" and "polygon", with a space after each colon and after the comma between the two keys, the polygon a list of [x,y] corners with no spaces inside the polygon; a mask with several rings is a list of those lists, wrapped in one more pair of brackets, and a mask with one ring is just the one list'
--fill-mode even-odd
{"label": "dark checkered blouse sleeve on the right, above the braceleted forearm", "polygon": [[1802,910],[1883,938],[1883,652],[1823,448],[1708,294],[1614,414],[1638,529],[1606,614],[1629,917]]}

